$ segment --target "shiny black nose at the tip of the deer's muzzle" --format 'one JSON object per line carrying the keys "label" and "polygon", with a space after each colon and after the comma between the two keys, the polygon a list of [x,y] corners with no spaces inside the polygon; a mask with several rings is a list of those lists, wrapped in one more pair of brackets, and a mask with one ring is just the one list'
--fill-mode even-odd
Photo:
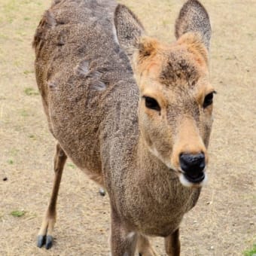
{"label": "shiny black nose at the tip of the deer's muzzle", "polygon": [[206,158],[200,154],[180,154],[179,162],[181,169],[191,178],[197,178],[206,167]]}

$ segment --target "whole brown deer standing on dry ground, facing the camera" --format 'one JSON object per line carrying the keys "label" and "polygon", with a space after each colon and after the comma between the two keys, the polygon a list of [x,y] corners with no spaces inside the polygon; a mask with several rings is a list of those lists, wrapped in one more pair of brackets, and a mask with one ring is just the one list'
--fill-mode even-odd
{"label": "whole brown deer standing on dry ground, facing the camera", "polygon": [[56,139],[53,190],[38,233],[51,248],[67,157],[108,193],[113,256],[180,255],[179,227],[204,184],[213,96],[209,14],[188,0],[176,41],[149,36],[114,0],[53,1],[35,32],[35,76]]}

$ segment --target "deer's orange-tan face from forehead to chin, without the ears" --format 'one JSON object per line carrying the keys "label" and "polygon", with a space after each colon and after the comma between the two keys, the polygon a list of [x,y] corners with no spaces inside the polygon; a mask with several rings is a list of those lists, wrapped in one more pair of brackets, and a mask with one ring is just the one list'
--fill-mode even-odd
{"label": "deer's orange-tan face from forehead to chin, without the ears", "polygon": [[215,91],[209,84],[206,49],[188,39],[171,47],[147,41],[148,49],[134,57],[134,70],[145,145],[175,170],[182,184],[200,186],[206,181]]}

